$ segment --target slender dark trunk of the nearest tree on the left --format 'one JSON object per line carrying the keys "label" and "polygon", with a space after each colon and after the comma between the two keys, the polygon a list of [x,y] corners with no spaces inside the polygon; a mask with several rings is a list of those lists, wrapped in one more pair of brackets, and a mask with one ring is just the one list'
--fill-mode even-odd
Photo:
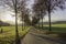
{"label": "slender dark trunk of the nearest tree on the left", "polygon": [[18,10],[16,10],[16,0],[15,0],[15,44],[20,44],[19,31],[18,31]]}

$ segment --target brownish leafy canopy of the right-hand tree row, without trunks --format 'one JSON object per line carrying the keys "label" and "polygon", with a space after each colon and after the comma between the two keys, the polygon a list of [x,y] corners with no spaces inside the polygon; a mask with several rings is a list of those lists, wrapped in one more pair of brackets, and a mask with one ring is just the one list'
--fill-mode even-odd
{"label": "brownish leafy canopy of the right-hand tree row, without trunks", "polygon": [[62,10],[65,9],[65,1],[66,0],[35,0],[33,4],[34,22],[38,22],[40,19],[44,18],[46,13],[51,13],[54,10],[57,10],[57,8]]}

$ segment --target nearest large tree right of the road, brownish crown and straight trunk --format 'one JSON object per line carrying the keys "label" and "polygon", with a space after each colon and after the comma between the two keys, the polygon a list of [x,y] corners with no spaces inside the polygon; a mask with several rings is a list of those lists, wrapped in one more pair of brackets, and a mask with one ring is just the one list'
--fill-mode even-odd
{"label": "nearest large tree right of the road, brownish crown and straight trunk", "polygon": [[[45,11],[46,13],[48,13],[48,23],[50,23],[50,31],[51,31],[51,13],[56,10],[57,8],[59,9],[65,9],[64,4],[65,4],[66,0],[35,0],[35,4],[34,4],[34,11]],[[38,12],[35,13],[38,13]],[[43,14],[43,13],[41,13]]]}

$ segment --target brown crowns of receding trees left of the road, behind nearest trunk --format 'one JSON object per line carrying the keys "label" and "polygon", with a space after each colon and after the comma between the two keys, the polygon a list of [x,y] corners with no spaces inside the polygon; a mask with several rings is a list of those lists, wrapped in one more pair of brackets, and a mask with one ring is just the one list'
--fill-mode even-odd
{"label": "brown crowns of receding trees left of the road, behind nearest trunk", "polygon": [[24,22],[25,24],[30,25],[31,24],[31,21],[30,21],[30,9],[26,8],[28,4],[26,4],[26,1],[29,0],[23,0],[19,7],[20,9],[20,19],[22,22]]}

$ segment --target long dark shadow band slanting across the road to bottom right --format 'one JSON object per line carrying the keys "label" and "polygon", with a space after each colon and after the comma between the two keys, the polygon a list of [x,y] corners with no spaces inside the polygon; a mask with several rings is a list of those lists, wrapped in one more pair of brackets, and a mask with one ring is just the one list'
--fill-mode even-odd
{"label": "long dark shadow band slanting across the road to bottom right", "polygon": [[66,44],[66,42],[65,41],[62,41],[61,38],[59,40],[58,38],[54,38],[54,37],[52,38],[52,37],[48,37],[48,36],[45,36],[45,35],[37,35],[37,34],[33,34],[33,33],[30,33],[30,34],[32,34],[32,35],[34,35],[36,37],[41,37],[43,40],[56,42],[56,43],[59,43],[59,44]]}

